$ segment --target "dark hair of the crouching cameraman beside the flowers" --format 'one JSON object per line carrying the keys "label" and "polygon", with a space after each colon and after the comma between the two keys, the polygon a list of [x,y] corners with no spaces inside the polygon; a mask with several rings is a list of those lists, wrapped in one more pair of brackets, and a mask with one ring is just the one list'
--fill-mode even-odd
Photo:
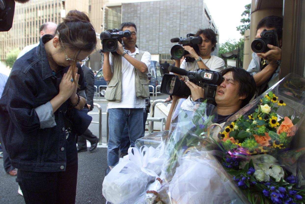
{"label": "dark hair of the crouching cameraman beside the flowers", "polygon": [[239,96],[246,96],[246,98],[242,101],[241,107],[244,107],[249,103],[255,93],[256,84],[253,76],[242,68],[237,67],[228,67],[227,69],[222,70],[220,73],[222,75],[227,72],[232,72],[234,81],[239,83]]}

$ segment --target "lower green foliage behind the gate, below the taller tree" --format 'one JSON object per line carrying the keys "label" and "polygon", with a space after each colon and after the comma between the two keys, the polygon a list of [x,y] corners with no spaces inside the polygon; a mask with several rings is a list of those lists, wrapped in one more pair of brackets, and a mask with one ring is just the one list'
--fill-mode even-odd
{"label": "lower green foliage behind the gate, below the taller tree", "polygon": [[[221,58],[221,54],[227,53],[227,52],[232,52],[233,50],[236,50],[239,48],[239,52],[243,53],[243,47],[244,47],[244,39],[240,38],[239,40],[228,40],[225,43],[221,43],[219,45],[219,53],[218,57]],[[233,58],[237,59],[237,58]],[[243,62],[243,55],[240,55],[240,60],[241,60],[241,66]],[[225,63],[227,64],[227,59],[224,59]]]}

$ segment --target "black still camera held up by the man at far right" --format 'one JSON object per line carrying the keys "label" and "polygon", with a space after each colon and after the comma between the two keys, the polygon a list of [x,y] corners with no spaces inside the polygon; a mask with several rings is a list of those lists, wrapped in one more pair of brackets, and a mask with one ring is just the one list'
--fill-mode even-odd
{"label": "black still camera held up by the man at far right", "polygon": [[255,53],[267,52],[270,50],[267,44],[278,47],[278,35],[276,34],[276,30],[264,29],[263,32],[260,33],[260,38],[253,40],[251,43],[251,49]]}

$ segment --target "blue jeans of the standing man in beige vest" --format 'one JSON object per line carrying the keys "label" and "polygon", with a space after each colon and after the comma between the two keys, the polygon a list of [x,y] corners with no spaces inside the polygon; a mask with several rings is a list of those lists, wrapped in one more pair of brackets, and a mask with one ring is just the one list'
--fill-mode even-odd
{"label": "blue jeans of the standing man in beige vest", "polygon": [[119,161],[119,149],[124,137],[123,130],[127,123],[130,146],[144,136],[143,108],[111,108],[108,110],[109,141],[107,150],[107,164],[114,166]]}

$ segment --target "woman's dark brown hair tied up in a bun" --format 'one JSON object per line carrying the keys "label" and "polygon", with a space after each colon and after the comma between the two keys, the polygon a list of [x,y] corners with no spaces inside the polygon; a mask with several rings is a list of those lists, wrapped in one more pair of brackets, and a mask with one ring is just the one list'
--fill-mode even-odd
{"label": "woman's dark brown hair tied up in a bun", "polygon": [[76,67],[78,54],[81,51],[93,51],[97,42],[95,30],[90,23],[89,17],[84,12],[77,10],[69,11],[63,22],[57,26],[55,34],[59,35],[61,47],[63,44],[65,49],[69,48],[70,50],[77,51],[74,55],[75,63],[72,71]]}

